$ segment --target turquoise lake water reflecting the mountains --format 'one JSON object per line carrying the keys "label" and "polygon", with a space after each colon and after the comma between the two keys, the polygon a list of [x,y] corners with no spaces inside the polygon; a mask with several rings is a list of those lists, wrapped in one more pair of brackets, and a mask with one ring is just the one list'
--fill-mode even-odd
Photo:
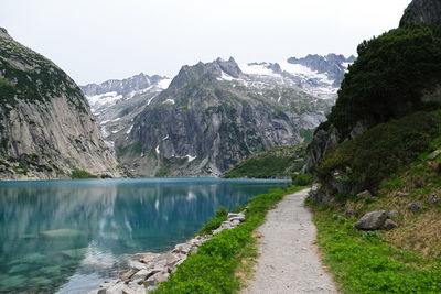
{"label": "turquoise lake water reflecting the mountains", "polygon": [[152,178],[0,182],[0,292],[87,293],[121,255],[184,242],[220,205],[286,181]]}

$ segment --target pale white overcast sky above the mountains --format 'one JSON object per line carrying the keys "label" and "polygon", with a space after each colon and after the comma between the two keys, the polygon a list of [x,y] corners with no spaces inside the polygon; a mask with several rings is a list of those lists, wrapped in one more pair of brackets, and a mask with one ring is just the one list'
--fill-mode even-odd
{"label": "pale white overcast sky above the mountains", "polygon": [[0,0],[0,26],[78,84],[182,65],[355,54],[410,0]]}

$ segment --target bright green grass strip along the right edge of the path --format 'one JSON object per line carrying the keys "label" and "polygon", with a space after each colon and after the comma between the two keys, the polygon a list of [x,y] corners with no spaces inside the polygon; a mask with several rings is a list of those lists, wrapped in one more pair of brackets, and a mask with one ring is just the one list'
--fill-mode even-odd
{"label": "bright green grass strip along the right edge of the path", "polygon": [[323,261],[343,293],[441,293],[441,259],[396,249],[381,232],[354,230],[355,220],[312,207]]}

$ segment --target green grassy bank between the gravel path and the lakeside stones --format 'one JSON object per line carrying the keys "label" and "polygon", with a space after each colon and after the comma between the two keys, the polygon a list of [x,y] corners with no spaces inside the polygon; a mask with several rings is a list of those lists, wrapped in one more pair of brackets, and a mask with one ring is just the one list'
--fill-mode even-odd
{"label": "green grassy bank between the gravel path and the lakeside stones", "polygon": [[[252,232],[265,221],[267,211],[284,195],[304,187],[275,189],[254,197],[245,214],[246,221],[239,227],[224,230],[204,242],[196,253],[189,255],[174,274],[154,293],[234,293],[240,287],[244,260],[257,257]],[[220,224],[225,214],[218,214],[202,233]]]}

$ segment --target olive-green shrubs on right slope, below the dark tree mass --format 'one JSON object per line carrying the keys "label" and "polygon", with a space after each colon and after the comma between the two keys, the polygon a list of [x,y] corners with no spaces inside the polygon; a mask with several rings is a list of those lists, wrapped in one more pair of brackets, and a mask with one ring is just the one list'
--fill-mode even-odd
{"label": "olive-green shrubs on right slope, below the dark tree mass", "polygon": [[440,133],[441,110],[417,111],[380,123],[330,151],[316,175],[322,183],[329,183],[334,171],[348,170],[348,186],[357,192],[376,192],[384,178],[413,162]]}

